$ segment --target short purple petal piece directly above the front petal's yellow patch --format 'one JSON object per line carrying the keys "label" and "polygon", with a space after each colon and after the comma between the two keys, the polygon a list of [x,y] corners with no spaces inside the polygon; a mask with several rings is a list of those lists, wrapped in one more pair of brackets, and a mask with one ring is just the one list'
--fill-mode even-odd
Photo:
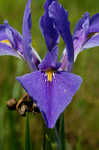
{"label": "short purple petal piece directly above the front petal's yellow patch", "polygon": [[58,47],[54,47],[52,51],[48,51],[41,64],[39,69],[49,70],[50,68],[57,69],[57,56],[58,56]]}

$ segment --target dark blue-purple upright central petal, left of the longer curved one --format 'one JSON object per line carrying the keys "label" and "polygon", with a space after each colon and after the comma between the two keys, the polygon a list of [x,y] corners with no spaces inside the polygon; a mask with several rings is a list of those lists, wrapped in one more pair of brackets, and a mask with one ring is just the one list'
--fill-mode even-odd
{"label": "dark blue-purple upright central petal, left of the longer curved one", "polygon": [[51,51],[58,44],[59,34],[53,25],[53,19],[49,18],[47,11],[40,18],[40,29],[44,36],[47,49]]}

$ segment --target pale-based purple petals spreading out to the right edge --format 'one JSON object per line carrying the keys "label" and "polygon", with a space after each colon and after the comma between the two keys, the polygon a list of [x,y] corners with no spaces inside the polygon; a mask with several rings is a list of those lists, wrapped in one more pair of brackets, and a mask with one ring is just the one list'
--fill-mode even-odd
{"label": "pale-based purple petals spreading out to the right edge", "polygon": [[81,18],[73,35],[74,59],[86,48],[99,46],[99,14],[89,17],[89,13]]}

